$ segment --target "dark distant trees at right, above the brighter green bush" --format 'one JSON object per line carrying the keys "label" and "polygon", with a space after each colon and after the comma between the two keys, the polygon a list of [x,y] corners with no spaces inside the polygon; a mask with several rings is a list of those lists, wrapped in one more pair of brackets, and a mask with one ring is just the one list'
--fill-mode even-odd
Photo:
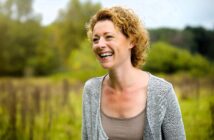
{"label": "dark distant trees at right, above the brighter green bush", "polygon": [[209,60],[214,60],[214,30],[203,27],[187,26],[183,30],[159,28],[149,30],[151,42],[168,42],[174,46],[199,53]]}

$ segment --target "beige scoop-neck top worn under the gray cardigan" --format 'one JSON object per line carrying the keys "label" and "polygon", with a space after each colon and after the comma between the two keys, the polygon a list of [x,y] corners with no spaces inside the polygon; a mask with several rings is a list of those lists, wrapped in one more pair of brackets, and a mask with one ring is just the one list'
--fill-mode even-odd
{"label": "beige scoop-neck top worn under the gray cardigan", "polygon": [[143,140],[145,111],[131,118],[113,118],[101,111],[101,121],[110,140]]}

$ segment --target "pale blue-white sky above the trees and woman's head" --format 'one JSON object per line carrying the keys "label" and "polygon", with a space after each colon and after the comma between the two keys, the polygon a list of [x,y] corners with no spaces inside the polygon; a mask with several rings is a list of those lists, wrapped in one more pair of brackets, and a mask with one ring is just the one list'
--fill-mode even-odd
{"label": "pale blue-white sky above the trees and woman's head", "polygon": [[[48,25],[70,0],[34,0],[34,11]],[[84,2],[84,0],[81,0]],[[203,26],[214,29],[214,0],[91,0],[103,7],[115,5],[133,9],[148,28]]]}

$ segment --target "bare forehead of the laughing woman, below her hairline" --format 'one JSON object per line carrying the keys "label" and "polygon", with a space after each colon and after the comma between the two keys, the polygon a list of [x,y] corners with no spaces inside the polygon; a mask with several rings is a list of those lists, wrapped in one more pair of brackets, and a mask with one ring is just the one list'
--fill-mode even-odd
{"label": "bare forehead of the laughing woman, below her hairline", "polygon": [[114,25],[114,23],[110,20],[98,21],[93,29],[93,35],[95,34],[103,34],[108,32],[118,32],[118,29]]}

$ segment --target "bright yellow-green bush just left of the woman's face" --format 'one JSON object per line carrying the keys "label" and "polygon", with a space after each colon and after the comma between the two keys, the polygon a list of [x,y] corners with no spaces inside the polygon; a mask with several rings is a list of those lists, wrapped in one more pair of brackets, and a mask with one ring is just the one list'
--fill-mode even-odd
{"label": "bright yellow-green bush just left of the woman's face", "polygon": [[93,76],[103,75],[105,70],[95,58],[91,44],[86,39],[80,48],[71,52],[69,61],[69,71],[72,72],[72,78],[85,81]]}

